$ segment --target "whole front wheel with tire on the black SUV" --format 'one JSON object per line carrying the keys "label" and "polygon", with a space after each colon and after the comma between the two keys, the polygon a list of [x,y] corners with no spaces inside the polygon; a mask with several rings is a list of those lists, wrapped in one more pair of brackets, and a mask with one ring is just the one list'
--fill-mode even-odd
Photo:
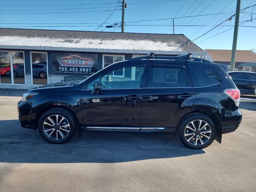
{"label": "whole front wheel with tire on the black SUV", "polygon": [[74,136],[77,126],[74,114],[64,108],[50,109],[42,114],[38,121],[42,138],[56,144],[68,142]]}

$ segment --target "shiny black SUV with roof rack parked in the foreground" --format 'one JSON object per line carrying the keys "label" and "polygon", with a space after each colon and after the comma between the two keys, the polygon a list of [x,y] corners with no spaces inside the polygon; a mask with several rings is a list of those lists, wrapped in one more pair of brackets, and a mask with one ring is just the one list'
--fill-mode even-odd
{"label": "shiny black SUV with roof rack parked in the foreground", "polygon": [[116,62],[86,80],[25,92],[18,102],[22,127],[64,143],[77,128],[97,131],[171,132],[193,149],[238,128],[240,91],[215,63],[191,54]]}

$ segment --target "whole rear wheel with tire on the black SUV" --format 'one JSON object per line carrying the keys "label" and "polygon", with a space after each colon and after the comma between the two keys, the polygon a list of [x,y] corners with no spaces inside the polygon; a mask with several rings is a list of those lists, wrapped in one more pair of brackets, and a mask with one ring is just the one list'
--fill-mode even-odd
{"label": "whole rear wheel with tire on the black SUV", "polygon": [[216,126],[204,114],[191,114],[191,116],[185,116],[182,119],[178,128],[178,136],[186,147],[203,149],[214,141],[216,137]]}

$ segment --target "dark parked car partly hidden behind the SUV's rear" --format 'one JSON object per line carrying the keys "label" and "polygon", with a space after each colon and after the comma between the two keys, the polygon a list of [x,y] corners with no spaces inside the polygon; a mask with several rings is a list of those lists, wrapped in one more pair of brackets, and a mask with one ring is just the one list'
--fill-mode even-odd
{"label": "dark parked car partly hidden behind the SUV's rear", "polygon": [[228,72],[241,94],[244,95],[255,95],[256,89],[256,73],[244,72],[244,71],[233,71]]}

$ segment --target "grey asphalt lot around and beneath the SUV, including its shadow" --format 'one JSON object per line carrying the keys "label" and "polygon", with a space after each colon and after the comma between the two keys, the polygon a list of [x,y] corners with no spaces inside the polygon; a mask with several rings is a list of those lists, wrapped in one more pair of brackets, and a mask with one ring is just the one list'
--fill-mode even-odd
{"label": "grey asphalt lot around and beneath the SUV, including its shadow", "polygon": [[0,90],[0,191],[255,191],[256,101],[242,124],[203,150],[174,134],[84,131],[49,144],[22,128],[22,90]]}

